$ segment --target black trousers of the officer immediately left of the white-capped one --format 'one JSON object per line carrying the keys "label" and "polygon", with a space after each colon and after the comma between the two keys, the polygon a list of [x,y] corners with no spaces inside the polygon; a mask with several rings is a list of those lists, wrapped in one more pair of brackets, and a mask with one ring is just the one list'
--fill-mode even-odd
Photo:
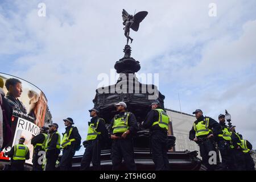
{"label": "black trousers of the officer immediately left of the white-capped one", "polygon": [[87,144],[84,155],[82,156],[80,171],[88,171],[90,168],[90,162],[93,164],[94,171],[100,171],[101,144],[98,139],[90,140]]}

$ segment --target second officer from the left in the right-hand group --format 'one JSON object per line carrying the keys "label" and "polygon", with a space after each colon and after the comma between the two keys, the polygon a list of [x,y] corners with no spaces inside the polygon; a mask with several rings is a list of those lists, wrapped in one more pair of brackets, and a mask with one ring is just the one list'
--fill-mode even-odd
{"label": "second officer from the left in the right-hand group", "polygon": [[218,168],[221,171],[233,170],[233,159],[232,159],[232,144],[231,144],[231,135],[229,127],[225,123],[225,115],[218,115],[218,121],[221,126],[221,133],[218,134],[218,150],[221,153],[221,164]]}

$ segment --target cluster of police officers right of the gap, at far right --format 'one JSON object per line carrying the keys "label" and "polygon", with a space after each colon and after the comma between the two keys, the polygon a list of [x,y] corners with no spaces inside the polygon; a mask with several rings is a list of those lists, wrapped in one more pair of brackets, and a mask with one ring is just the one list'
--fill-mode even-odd
{"label": "cluster of police officers right of the gap, at far right", "polygon": [[[251,143],[236,132],[236,126],[226,126],[224,114],[218,115],[219,122],[204,117],[200,109],[195,110],[193,114],[196,115],[196,121],[189,131],[189,139],[199,144],[202,163],[208,170],[255,170],[250,155]],[[220,164],[209,162],[212,151],[220,151]]]}

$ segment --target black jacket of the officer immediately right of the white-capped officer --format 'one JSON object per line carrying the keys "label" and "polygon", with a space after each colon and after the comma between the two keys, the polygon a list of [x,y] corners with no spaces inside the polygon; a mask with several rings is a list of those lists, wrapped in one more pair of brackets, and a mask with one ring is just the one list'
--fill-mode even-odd
{"label": "black jacket of the officer immediately right of the white-capped officer", "polygon": [[[160,108],[157,108],[157,109],[160,109]],[[159,125],[152,126],[152,124],[155,121],[158,121],[158,118],[159,118],[159,112],[155,109],[152,109],[147,113],[146,119],[143,122],[142,127],[144,127],[145,129],[150,129],[151,133],[155,133],[155,132],[166,133],[167,130],[163,129]]]}

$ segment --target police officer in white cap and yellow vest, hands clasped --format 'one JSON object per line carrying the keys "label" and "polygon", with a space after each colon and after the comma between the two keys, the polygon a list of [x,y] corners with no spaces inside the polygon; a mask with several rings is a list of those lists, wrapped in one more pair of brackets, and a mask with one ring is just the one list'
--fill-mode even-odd
{"label": "police officer in white cap and yellow vest, hands clasped", "polygon": [[136,170],[133,156],[133,135],[137,133],[138,126],[135,115],[126,111],[125,102],[114,104],[118,114],[110,123],[110,135],[112,139],[112,164],[113,170],[118,170],[125,161],[126,168]]}

